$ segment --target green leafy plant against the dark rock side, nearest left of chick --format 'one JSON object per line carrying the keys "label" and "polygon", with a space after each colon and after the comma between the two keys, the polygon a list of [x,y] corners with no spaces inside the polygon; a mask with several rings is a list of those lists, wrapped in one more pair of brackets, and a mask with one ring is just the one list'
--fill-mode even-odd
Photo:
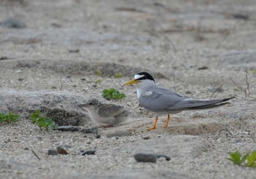
{"label": "green leafy plant against the dark rock side, nearest left of chick", "polygon": [[32,123],[37,124],[38,127],[40,127],[40,129],[45,128],[46,130],[50,129],[54,129],[57,127],[57,125],[55,124],[55,122],[53,122],[52,119],[49,119],[47,117],[42,117],[40,116],[40,110],[37,109],[37,111],[34,111],[33,114],[31,114],[29,116],[29,119],[31,120]]}

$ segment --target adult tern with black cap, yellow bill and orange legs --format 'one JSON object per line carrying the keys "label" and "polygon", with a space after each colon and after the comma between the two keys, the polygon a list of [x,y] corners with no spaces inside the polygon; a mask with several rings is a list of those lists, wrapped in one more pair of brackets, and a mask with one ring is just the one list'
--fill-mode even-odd
{"label": "adult tern with black cap, yellow bill and orange legs", "polygon": [[143,108],[154,112],[157,115],[154,126],[148,130],[157,128],[158,116],[167,114],[167,122],[164,127],[168,126],[170,121],[170,114],[177,114],[186,110],[200,110],[206,108],[214,108],[228,104],[225,98],[221,100],[195,100],[192,98],[184,97],[176,92],[158,87],[155,84],[153,77],[147,72],[140,72],[135,74],[134,79],[128,81],[124,85],[135,84],[137,89],[138,101]]}

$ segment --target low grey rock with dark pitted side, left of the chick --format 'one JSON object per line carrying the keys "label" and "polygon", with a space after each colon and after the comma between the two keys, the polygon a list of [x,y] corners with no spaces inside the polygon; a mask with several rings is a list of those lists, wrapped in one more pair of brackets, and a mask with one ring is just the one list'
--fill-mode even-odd
{"label": "low grey rock with dark pitted side, left of the chick", "polygon": [[78,107],[85,103],[83,95],[61,91],[25,91],[0,88],[0,111],[12,111],[29,117],[38,108],[42,116],[53,119],[58,125],[91,123],[89,115]]}

